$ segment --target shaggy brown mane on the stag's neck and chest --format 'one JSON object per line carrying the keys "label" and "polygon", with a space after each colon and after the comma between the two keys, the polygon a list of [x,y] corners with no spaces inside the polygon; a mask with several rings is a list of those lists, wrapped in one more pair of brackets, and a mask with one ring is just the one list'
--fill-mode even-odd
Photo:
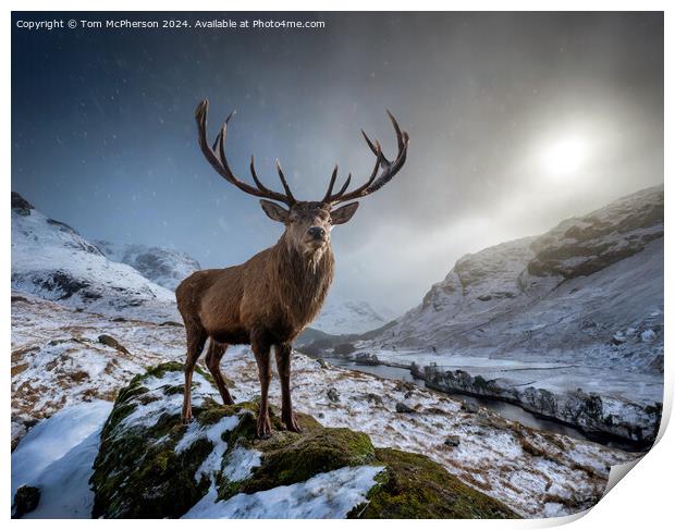
{"label": "shaggy brown mane on the stag's neck and chest", "polygon": [[333,281],[334,257],[330,244],[314,254],[299,251],[285,235],[272,248],[277,255],[275,276],[282,305],[298,325],[317,316]]}

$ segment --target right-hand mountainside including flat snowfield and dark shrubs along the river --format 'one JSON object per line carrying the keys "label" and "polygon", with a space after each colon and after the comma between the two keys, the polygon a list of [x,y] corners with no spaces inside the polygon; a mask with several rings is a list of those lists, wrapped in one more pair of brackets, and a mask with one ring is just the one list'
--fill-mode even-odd
{"label": "right-hand mountainside including flat snowfield and dark shrubs along the river", "polygon": [[384,360],[434,362],[434,383],[507,396],[575,424],[568,405],[580,402],[596,427],[653,441],[663,259],[659,186],[463,257],[422,304],[361,347]]}

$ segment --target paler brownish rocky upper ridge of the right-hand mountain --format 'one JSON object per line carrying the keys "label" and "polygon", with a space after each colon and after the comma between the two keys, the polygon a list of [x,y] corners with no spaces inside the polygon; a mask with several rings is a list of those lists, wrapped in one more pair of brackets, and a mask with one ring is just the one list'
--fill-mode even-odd
{"label": "paler brownish rocky upper ridge of the right-hand mountain", "polygon": [[[656,186],[565,220],[540,236],[465,255],[443,281],[431,286],[421,304],[397,319],[397,324],[377,337],[376,344],[438,348],[443,340],[470,333],[477,322],[487,324],[527,304],[537,304],[565,282],[592,278],[645,250],[652,242],[661,241],[662,246],[662,236],[663,186]],[[659,261],[658,256],[654,259]],[[655,306],[662,304],[661,295]],[[421,325],[425,319],[426,329]],[[438,328],[431,330],[432,336],[421,336],[433,324]]]}

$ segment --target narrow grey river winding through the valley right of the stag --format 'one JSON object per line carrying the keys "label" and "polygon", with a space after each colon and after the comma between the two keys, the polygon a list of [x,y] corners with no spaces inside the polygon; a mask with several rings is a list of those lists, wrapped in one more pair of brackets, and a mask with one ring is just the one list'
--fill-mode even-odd
{"label": "narrow grey river winding through the valley right of the stag", "polygon": [[[372,373],[373,375],[378,375],[384,379],[407,381],[408,383],[414,383],[422,389],[425,387],[425,382],[420,379],[415,379],[410,374],[410,372],[405,368],[390,367],[386,365],[377,365],[377,366],[357,365],[353,360],[343,359],[340,357],[326,357],[326,360],[329,361],[331,365],[348,368],[351,370]],[[578,429],[575,429],[574,427],[569,427],[564,423],[560,423],[557,421],[551,421],[544,418],[540,418],[518,407],[517,405],[512,405],[511,403],[505,403],[500,399],[491,399],[489,397],[467,396],[465,394],[459,394],[459,393],[446,393],[446,394],[451,397],[454,397],[455,399],[475,403],[476,405],[479,405],[481,407],[489,408],[490,410],[499,414],[503,418],[506,418],[513,421],[518,421],[519,423],[527,426],[527,427],[531,427],[533,429],[541,429],[543,431],[554,432],[556,434],[565,434],[567,436],[575,437],[578,440],[590,440],[586,434],[584,434]]]}

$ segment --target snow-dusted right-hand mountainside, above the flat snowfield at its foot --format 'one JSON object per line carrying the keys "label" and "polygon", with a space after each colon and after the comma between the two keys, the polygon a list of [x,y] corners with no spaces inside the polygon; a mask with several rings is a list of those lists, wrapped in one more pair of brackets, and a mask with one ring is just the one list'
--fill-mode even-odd
{"label": "snow-dusted right-hand mountainside, above the flat snowfield at its foot", "polygon": [[[570,350],[609,343],[634,326],[655,328],[654,352],[663,340],[651,316],[663,309],[662,249],[661,186],[564,221],[542,236],[463,257],[378,344]],[[511,336],[504,337],[506,329]]]}

